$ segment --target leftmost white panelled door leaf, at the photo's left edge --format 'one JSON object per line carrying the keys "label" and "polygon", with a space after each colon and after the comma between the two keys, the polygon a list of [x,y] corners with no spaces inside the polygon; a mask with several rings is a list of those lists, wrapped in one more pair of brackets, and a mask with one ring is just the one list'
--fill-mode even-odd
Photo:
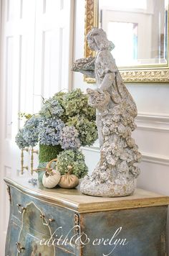
{"label": "leftmost white panelled door leaf, at the photo's left edge", "polygon": [[[25,9],[27,12],[25,12]],[[6,227],[9,218],[9,198],[4,186],[4,176],[19,175],[20,150],[15,136],[20,122],[20,111],[32,111],[33,58],[34,55],[34,1],[2,1],[1,20],[1,254],[4,255]],[[30,17],[29,17],[30,14]],[[28,100],[29,98],[29,100]],[[26,159],[29,162],[29,158]],[[25,172],[25,175],[27,173]]]}

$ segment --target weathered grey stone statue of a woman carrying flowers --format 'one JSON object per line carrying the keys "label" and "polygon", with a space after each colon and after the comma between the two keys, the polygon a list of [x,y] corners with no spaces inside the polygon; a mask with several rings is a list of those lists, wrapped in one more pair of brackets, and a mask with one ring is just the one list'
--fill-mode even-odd
{"label": "weathered grey stone statue of a woman carrying flowers", "polygon": [[91,196],[127,196],[134,192],[134,180],[140,162],[131,132],[136,128],[137,108],[127,91],[112,57],[112,42],[103,29],[93,28],[87,42],[97,52],[96,58],[77,60],[72,70],[95,77],[97,90],[87,89],[89,104],[97,109],[100,162],[90,177],[82,180],[80,190]]}

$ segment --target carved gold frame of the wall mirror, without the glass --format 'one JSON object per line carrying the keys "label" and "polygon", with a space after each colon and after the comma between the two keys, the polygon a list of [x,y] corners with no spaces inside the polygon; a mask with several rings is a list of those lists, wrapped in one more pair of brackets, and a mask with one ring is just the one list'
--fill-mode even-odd
{"label": "carved gold frame of the wall mirror, without the glass", "polygon": [[[90,50],[87,45],[86,35],[92,27],[98,26],[98,1],[85,0],[84,17],[84,58],[95,56],[95,52]],[[169,27],[169,26],[168,26]],[[168,42],[169,45],[169,42]],[[168,55],[168,52],[167,52]],[[165,65],[137,66],[119,68],[122,79],[125,83],[168,83],[169,82],[169,63]],[[87,83],[95,83],[94,78],[84,76]]]}

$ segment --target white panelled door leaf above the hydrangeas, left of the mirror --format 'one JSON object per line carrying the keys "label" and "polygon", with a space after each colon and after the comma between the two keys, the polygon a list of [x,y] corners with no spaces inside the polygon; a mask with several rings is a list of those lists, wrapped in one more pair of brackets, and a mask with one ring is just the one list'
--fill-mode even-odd
{"label": "white panelled door leaf above the hydrangeas, left of the mirror", "polygon": [[37,0],[34,111],[41,104],[41,96],[48,98],[72,87],[73,15],[72,0]]}

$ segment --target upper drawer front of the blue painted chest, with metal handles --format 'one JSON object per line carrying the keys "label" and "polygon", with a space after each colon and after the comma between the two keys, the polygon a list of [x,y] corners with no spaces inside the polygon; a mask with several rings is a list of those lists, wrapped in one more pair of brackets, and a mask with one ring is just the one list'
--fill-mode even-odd
{"label": "upper drawer front of the blue painted chest, with metal handles", "polygon": [[[49,204],[28,196],[16,188],[11,188],[11,214],[15,217],[14,219],[21,221],[27,234],[38,232],[42,234],[38,239],[43,240],[43,243],[46,242],[47,246],[53,243],[55,247],[66,248],[74,253],[74,240],[77,233],[74,227],[74,211]],[[25,237],[26,233],[16,242],[25,246],[26,242],[21,237]]]}

